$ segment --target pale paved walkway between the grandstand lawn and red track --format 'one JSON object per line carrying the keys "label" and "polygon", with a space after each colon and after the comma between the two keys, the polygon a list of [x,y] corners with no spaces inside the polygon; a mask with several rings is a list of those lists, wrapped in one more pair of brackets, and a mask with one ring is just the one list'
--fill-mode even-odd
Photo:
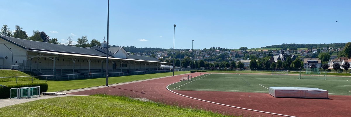
{"label": "pale paved walkway between the grandstand lawn and red track", "polygon": [[[189,74],[189,73],[186,73]],[[185,75],[185,74],[179,74],[175,76],[180,76],[180,75]],[[159,77],[159,78],[152,78],[152,79],[145,79],[145,80],[137,80],[137,81],[132,81],[132,82],[126,82],[126,83],[118,83],[118,84],[111,84],[108,86],[117,86],[117,85],[124,85],[124,84],[130,84],[130,83],[137,83],[137,82],[143,82],[147,80],[154,80],[154,79],[160,79],[160,78],[167,78],[170,76],[166,77]],[[83,89],[75,89],[75,90],[68,90],[68,91],[60,91],[59,93],[72,93],[72,92],[78,92],[78,91],[85,91],[85,90],[92,90],[92,89],[99,89],[107,86],[95,86],[95,87],[89,87],[89,88],[83,88]],[[31,102],[34,100],[39,100],[39,99],[48,99],[48,98],[55,98],[55,97],[66,97],[66,96],[83,96],[83,95],[61,95],[61,96],[52,96],[52,95],[40,95],[38,98],[29,98],[29,99],[0,99],[0,108],[5,107],[5,106],[11,106],[15,104],[21,104],[21,103],[26,103],[26,102]]]}

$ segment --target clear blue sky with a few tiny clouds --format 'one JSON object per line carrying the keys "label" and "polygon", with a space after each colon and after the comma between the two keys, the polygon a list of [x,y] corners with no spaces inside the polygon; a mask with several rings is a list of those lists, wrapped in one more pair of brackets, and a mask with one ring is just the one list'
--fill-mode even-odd
{"label": "clear blue sky with a few tiny clouds", "polygon": [[[110,45],[173,48],[347,43],[350,0],[111,0]],[[2,0],[0,25],[102,41],[107,0]],[[338,22],[336,22],[338,21]]]}

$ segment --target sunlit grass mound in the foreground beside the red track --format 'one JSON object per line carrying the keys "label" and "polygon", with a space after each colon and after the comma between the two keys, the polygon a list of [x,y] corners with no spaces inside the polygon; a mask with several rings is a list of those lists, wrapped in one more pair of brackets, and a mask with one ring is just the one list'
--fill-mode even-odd
{"label": "sunlit grass mound in the foreground beside the red track", "polygon": [[41,99],[0,108],[4,117],[223,117],[218,113],[142,102],[128,97],[93,95]]}

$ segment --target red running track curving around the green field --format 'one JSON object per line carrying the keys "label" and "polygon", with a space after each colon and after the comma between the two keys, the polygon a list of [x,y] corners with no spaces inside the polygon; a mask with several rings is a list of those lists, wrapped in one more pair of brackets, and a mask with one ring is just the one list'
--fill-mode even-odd
{"label": "red running track curving around the green field", "polygon": [[[188,74],[184,75],[187,76]],[[191,73],[193,77],[200,73]],[[182,95],[203,99],[220,104],[214,104],[197,99],[184,97],[168,91],[166,86],[174,81],[178,82],[180,76],[172,76],[144,82],[105,87],[100,89],[73,92],[75,95],[93,95],[106,93],[108,95],[130,96],[146,98],[155,102],[171,105],[211,110],[228,115],[241,115],[249,117],[282,117],[271,113],[250,111],[233,108],[226,104],[252,110],[279,113],[290,116],[351,116],[351,96],[329,96],[330,99],[304,99],[304,98],[274,98],[266,93],[246,92],[220,92],[220,91],[174,91]],[[249,97],[250,96],[250,97]]]}

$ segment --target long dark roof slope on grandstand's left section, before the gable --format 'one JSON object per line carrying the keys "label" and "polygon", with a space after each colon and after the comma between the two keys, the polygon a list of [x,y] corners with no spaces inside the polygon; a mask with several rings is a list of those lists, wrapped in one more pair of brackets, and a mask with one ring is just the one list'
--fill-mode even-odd
{"label": "long dark roof slope on grandstand's left section, before the gable", "polygon": [[97,51],[95,49],[90,49],[90,48],[51,44],[51,43],[45,43],[40,41],[6,37],[2,35],[0,35],[0,38],[7,40],[12,44],[15,44],[27,50],[40,50],[40,51],[75,53],[75,54],[85,54],[85,55],[94,55],[94,56],[106,56],[106,53],[102,53],[100,51]]}

